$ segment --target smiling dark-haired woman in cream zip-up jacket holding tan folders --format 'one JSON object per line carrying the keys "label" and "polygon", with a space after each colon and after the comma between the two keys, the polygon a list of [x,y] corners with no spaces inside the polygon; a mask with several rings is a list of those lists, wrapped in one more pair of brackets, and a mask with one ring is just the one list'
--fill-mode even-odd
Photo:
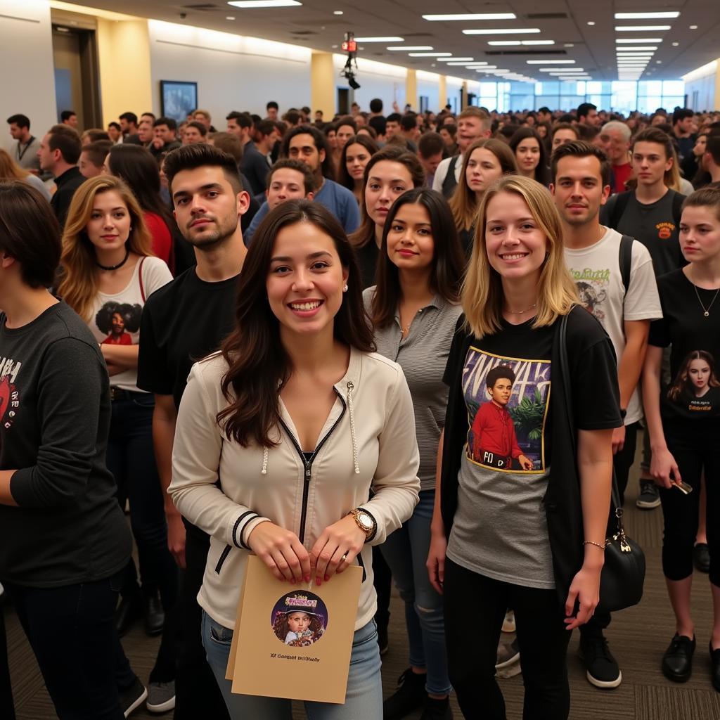
{"label": "smiling dark-haired woman in cream zip-up jacket holding tan folders", "polygon": [[408,384],[373,351],[341,226],[317,204],[280,205],[248,252],[235,331],[193,366],[169,488],[211,536],[198,601],[233,719],[289,717],[289,701],[233,695],[225,680],[251,552],[290,582],[364,568],[346,703],[308,704],[323,720],[382,716],[370,546],[410,517],[420,482]]}

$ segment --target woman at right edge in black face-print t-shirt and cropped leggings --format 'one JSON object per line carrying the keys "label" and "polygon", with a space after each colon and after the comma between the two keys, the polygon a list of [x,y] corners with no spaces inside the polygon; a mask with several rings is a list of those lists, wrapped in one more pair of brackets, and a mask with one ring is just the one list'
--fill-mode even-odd
{"label": "woman at right edge in black face-print t-shirt and cropped leggings", "polygon": [[[662,672],[690,678],[695,626],[690,614],[693,546],[698,528],[700,482],[707,493],[710,588],[715,618],[710,638],[712,683],[720,691],[720,189],[693,192],[683,204],[680,249],[688,265],[657,279],[662,320],[650,325],[643,376],[650,435],[650,472],[660,485],[665,534],[662,572],[675,613],[675,636]],[[663,348],[671,346],[669,387],[661,390]],[[684,490],[679,488],[684,487]],[[693,488],[688,494],[688,487]]]}

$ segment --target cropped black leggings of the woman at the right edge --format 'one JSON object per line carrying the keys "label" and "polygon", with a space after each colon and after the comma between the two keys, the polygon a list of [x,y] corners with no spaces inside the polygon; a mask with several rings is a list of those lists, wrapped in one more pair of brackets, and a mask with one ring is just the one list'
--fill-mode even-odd
{"label": "cropped black leggings of the woman at the right edge", "polygon": [[664,423],[667,449],[675,458],[683,482],[693,492],[660,488],[665,534],[662,538],[662,572],[668,580],[685,580],[693,574],[693,546],[698,531],[700,482],[705,470],[710,582],[720,587],[720,422],[696,420]]}

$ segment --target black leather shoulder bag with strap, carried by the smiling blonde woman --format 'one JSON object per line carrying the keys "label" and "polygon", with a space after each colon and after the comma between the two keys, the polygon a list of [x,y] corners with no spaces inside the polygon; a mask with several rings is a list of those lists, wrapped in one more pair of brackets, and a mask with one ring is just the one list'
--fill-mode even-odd
{"label": "black leather shoulder bag with strap, carried by the smiling blonde woman", "polygon": [[[570,427],[575,428],[572,412],[572,384],[570,382],[570,362],[567,358],[567,315],[560,318],[560,376],[565,395],[565,405]],[[570,438],[572,451],[577,458],[575,435]],[[623,529],[623,508],[620,504],[618,482],[613,470],[613,490],[611,502],[618,521],[617,532],[605,541],[605,564],[600,575],[600,603],[598,609],[614,612],[637,605],[642,598],[642,586],[645,581],[645,555],[642,548],[626,536]]]}

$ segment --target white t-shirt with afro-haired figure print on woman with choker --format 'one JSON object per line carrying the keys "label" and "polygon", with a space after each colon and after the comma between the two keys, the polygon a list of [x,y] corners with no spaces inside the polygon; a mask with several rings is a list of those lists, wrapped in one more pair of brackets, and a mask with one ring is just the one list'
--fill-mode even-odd
{"label": "white t-shirt with afro-haired figure print on woman with choker", "polygon": [[[89,323],[96,341],[101,344],[137,345],[145,300],[172,279],[168,266],[160,258],[140,258],[125,288],[114,294],[97,294]],[[137,368],[111,375],[110,384],[121,390],[144,392],[138,388]]]}

